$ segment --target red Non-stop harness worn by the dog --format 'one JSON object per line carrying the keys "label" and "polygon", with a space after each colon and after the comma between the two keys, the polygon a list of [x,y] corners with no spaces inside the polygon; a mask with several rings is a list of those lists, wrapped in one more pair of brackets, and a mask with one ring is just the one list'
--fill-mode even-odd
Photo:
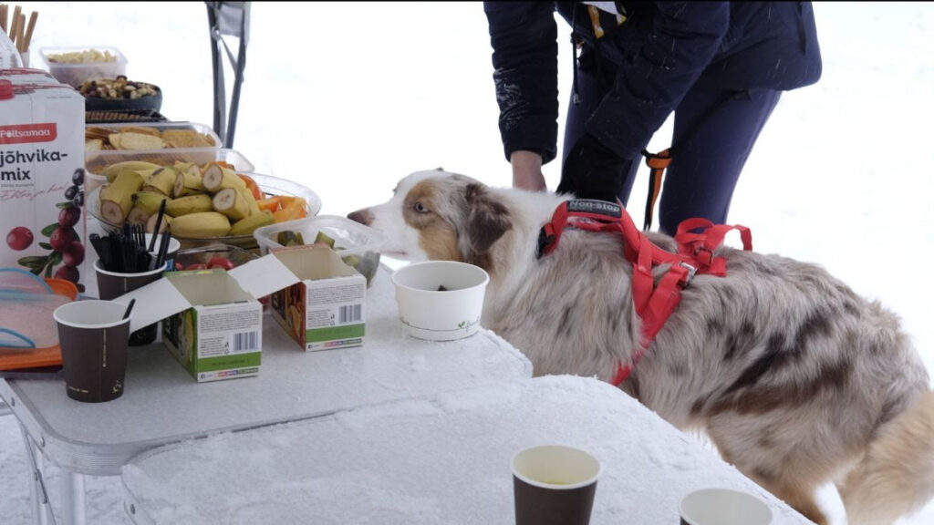
{"label": "red Non-stop harness worn by the dog", "polygon": [[[745,226],[714,224],[706,219],[688,219],[678,225],[674,239],[678,253],[658,248],[648,237],[636,229],[623,206],[594,200],[565,201],[558,206],[551,222],[545,224],[538,235],[537,257],[541,258],[558,247],[561,232],[571,225],[588,232],[618,232],[623,235],[623,256],[632,262],[632,302],[642,320],[642,345],[633,353],[632,362],[620,362],[611,379],[619,386],[632,373],[636,362],[655,339],[665,321],[681,301],[681,290],[695,274],[727,275],[727,262],[714,257],[715,248],[723,243],[730,230],[738,230],[743,249],[752,249],[752,234]],[[695,232],[699,230],[700,232]],[[658,281],[652,277],[652,268],[670,264],[668,272]]]}

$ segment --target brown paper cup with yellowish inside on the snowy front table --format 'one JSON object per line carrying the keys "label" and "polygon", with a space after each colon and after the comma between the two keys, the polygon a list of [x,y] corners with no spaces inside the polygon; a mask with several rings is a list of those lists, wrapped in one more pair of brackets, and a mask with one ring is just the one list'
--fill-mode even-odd
{"label": "brown paper cup with yellowish inside on the snowy front table", "polygon": [[517,525],[587,525],[601,465],[573,447],[526,448],[513,457]]}

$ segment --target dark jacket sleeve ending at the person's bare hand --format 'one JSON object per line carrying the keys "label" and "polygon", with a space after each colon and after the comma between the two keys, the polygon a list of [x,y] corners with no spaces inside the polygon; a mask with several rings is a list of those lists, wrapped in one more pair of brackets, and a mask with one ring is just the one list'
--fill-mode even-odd
{"label": "dark jacket sleeve ending at the person's bare hand", "polygon": [[517,149],[557,155],[558,27],[554,2],[484,2],[506,160]]}

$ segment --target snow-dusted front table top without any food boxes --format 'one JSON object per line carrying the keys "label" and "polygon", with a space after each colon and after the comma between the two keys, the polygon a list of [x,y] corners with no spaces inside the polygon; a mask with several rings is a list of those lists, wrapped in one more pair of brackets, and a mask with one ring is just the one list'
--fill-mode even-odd
{"label": "snow-dusted front table top without any food boxes", "polygon": [[810,523],[622,391],[544,376],[152,449],[121,475],[135,523],[513,523],[510,459],[582,447],[602,464],[591,524],[677,523],[678,502],[744,490]]}

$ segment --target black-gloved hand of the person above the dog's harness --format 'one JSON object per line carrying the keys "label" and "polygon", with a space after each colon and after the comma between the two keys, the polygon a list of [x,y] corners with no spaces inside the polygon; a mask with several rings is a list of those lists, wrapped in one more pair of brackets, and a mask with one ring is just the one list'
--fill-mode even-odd
{"label": "black-gloved hand of the person above the dog's harness", "polygon": [[578,199],[615,203],[631,163],[603,146],[593,135],[581,135],[564,160],[557,191],[573,193]]}

